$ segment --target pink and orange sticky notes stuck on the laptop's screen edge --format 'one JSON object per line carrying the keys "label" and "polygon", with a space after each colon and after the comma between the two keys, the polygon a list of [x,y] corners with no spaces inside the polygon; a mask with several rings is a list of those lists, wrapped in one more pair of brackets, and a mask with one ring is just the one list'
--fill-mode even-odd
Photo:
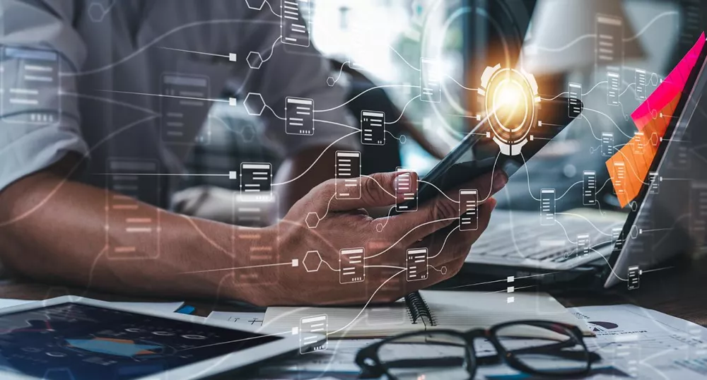
{"label": "pink and orange sticky notes stuck on the laptop's screen edge", "polygon": [[621,207],[628,206],[641,191],[643,180],[658,153],[660,139],[665,136],[704,46],[703,33],[665,81],[631,114],[637,128],[635,135],[607,161],[609,177]]}

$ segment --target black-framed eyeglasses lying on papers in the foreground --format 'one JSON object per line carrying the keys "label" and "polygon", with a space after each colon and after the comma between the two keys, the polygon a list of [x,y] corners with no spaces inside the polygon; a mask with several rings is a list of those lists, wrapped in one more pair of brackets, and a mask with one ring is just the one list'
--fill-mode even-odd
{"label": "black-framed eyeglasses lying on papers in the foreground", "polygon": [[[477,338],[487,342],[477,341],[475,347]],[[481,365],[505,362],[525,374],[565,379],[589,374],[600,359],[589,352],[576,326],[515,321],[487,330],[404,333],[361,349],[356,364],[363,378],[467,380]]]}

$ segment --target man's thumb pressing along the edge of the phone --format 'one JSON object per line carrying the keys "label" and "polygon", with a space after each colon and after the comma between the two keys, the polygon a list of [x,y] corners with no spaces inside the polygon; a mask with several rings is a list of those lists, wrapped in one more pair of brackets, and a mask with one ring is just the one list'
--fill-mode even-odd
{"label": "man's thumb pressing along the edge of the phone", "polygon": [[[387,207],[401,203],[404,200],[404,194],[396,194],[395,182],[397,177],[404,173],[410,173],[410,180],[417,182],[417,174],[414,172],[375,173],[360,179],[334,179],[325,182],[335,191],[329,210],[348,211],[358,208]],[[360,184],[357,184],[359,180]]]}

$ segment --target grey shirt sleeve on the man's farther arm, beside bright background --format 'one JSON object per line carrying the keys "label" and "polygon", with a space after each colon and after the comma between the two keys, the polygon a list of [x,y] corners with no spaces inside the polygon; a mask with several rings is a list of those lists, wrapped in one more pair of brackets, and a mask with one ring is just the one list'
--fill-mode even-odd
{"label": "grey shirt sleeve on the man's farther arm, beside bright background", "polygon": [[[254,94],[262,95],[267,106],[261,115],[265,136],[285,156],[312,147],[358,150],[361,138],[346,107],[349,88],[345,76],[311,42],[308,47],[285,44],[281,38],[281,19],[274,14],[277,10],[270,11],[267,5],[261,11],[244,10],[249,22],[242,26],[246,46],[241,44],[240,51],[245,52],[243,59],[248,62],[244,66],[249,69],[243,75],[241,90],[246,107],[259,111],[260,99]],[[259,69],[252,68],[255,66]],[[246,97],[249,93],[251,96]],[[285,108],[294,112],[296,107],[296,103],[286,105],[288,97],[312,100],[315,119],[312,135],[286,131]]]}

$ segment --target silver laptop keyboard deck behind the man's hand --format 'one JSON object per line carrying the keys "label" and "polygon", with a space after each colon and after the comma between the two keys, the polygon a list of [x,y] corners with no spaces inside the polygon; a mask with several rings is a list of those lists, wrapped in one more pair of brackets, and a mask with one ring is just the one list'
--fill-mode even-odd
{"label": "silver laptop keyboard deck behind the man's hand", "polygon": [[[583,218],[558,215],[556,225],[542,226],[537,213],[507,213],[507,220],[494,224],[474,243],[469,259],[501,259],[564,263],[580,257],[578,236],[589,235],[588,247],[611,244],[612,227],[621,223],[605,218]],[[592,226],[595,225],[595,227]]]}

